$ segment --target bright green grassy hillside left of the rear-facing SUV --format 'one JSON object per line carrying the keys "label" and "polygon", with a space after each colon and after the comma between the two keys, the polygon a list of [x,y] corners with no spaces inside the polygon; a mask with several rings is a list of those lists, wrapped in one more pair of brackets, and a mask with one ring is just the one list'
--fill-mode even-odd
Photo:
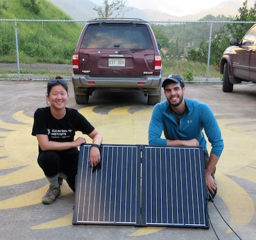
{"label": "bright green grassy hillside left of the rear-facing SUV", "polygon": [[[0,0],[3,6],[3,0]],[[72,20],[46,0],[9,0],[1,19]],[[19,59],[23,63],[71,64],[82,30],[79,23],[17,21]],[[0,62],[16,62],[14,21],[0,21]]]}

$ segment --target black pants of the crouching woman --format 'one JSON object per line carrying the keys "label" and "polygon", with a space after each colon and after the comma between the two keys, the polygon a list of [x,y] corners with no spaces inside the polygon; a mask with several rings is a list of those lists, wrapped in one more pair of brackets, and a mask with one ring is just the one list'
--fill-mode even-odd
{"label": "black pants of the crouching woman", "polygon": [[67,175],[67,183],[75,192],[75,182],[79,152],[77,154],[61,154],[59,151],[43,151],[38,156],[38,164],[48,178],[63,172]]}

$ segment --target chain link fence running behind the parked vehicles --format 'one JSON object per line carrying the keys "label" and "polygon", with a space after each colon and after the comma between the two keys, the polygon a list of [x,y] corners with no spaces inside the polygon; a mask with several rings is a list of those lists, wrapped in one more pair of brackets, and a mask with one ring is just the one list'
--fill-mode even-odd
{"label": "chain link fence running behind the parked vehicles", "polygon": [[[186,82],[221,82],[222,52],[213,54],[212,39],[227,23],[252,26],[256,22],[150,22],[162,45],[163,75],[181,74]],[[85,24],[0,19],[0,80],[48,80],[56,75],[70,80],[73,52]],[[227,39],[231,37],[227,33]]]}

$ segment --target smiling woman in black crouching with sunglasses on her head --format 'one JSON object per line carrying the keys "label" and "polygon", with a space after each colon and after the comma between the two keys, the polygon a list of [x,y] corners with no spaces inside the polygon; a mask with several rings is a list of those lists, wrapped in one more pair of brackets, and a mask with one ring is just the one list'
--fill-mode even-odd
{"label": "smiling woman in black crouching with sunglasses on her head", "polygon": [[102,135],[77,110],[66,107],[68,85],[61,77],[48,82],[46,98],[51,105],[36,110],[32,135],[38,139],[38,163],[49,182],[49,190],[43,196],[42,203],[51,204],[60,195],[63,181],[60,174],[75,192],[79,158],[77,147],[86,143],[84,137],[74,141],[75,132],[80,130],[92,138],[89,154],[92,167],[100,163]]}

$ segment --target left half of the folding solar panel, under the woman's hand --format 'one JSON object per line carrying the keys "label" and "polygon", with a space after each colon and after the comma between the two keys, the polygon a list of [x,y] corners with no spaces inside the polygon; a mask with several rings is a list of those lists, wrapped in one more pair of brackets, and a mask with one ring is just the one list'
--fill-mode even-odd
{"label": "left half of the folding solar panel, under the woman's hand", "polygon": [[141,224],[140,146],[102,145],[101,169],[90,167],[90,145],[80,148],[73,224]]}

